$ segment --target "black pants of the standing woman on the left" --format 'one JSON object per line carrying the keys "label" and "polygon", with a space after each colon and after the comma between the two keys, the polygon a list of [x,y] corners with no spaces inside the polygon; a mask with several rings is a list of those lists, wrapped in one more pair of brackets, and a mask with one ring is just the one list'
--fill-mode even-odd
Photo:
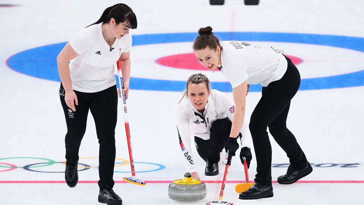
{"label": "black pants of the standing woman on the left", "polygon": [[[63,88],[61,84],[61,88]],[[96,93],[75,91],[78,105],[72,111],[66,105],[64,96],[60,96],[61,104],[66,117],[67,134],[66,160],[68,165],[76,165],[79,156],[81,140],[86,131],[88,110],[95,120],[96,134],[99,139],[99,187],[106,185],[113,187],[115,163],[115,126],[118,106],[118,93],[116,85]]]}

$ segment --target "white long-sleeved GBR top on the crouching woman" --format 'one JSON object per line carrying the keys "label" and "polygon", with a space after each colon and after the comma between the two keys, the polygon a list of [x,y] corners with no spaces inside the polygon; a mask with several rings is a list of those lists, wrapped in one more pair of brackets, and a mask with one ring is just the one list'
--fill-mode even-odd
{"label": "white long-sleeved GBR top on the crouching woman", "polygon": [[[197,136],[203,140],[210,139],[210,129],[216,120],[226,117],[233,121],[235,112],[234,102],[225,93],[211,89],[210,96],[205,105],[205,111],[200,113],[193,107],[189,98],[183,97],[176,110],[176,124],[179,136],[179,145],[182,148],[184,162],[187,171],[197,172],[192,154],[191,136]],[[230,131],[230,130],[229,130]],[[240,130],[242,134],[241,144],[243,147],[249,146],[251,139],[249,124],[244,120]]]}

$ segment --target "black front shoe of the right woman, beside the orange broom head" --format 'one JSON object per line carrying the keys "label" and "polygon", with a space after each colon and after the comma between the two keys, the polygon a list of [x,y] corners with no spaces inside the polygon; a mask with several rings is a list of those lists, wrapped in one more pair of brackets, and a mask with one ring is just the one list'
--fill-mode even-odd
{"label": "black front shoe of the right woman, beside the orange broom head", "polygon": [[239,194],[239,199],[260,199],[273,197],[272,185],[264,186],[261,183],[254,183],[248,190]]}

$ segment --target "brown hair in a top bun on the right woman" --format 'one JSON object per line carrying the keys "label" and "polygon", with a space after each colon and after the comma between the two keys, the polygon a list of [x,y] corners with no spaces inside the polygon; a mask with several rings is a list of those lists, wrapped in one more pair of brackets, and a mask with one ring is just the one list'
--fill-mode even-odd
{"label": "brown hair in a top bun on the right woman", "polygon": [[220,49],[222,50],[220,41],[216,36],[214,36],[211,26],[200,28],[198,30],[198,36],[193,43],[193,50],[202,50],[207,46],[213,50],[216,50],[216,47],[220,46]]}

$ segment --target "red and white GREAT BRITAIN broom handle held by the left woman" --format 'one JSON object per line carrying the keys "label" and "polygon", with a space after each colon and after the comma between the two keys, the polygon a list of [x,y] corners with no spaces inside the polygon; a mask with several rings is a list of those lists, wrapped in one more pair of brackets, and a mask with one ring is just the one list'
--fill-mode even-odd
{"label": "red and white GREAT BRITAIN broom handle held by the left woman", "polygon": [[[118,67],[118,76],[119,76],[119,87],[120,91],[124,89],[124,81],[123,81],[123,74],[121,72],[121,62],[120,59],[116,62],[116,66]],[[124,122],[125,122],[125,131],[126,131],[126,140],[128,143],[128,150],[129,150],[129,159],[130,159],[130,168],[131,168],[131,176],[135,177],[135,169],[134,169],[134,159],[133,159],[133,152],[131,150],[131,140],[130,140],[130,129],[129,129],[129,121],[128,121],[128,112],[126,108],[126,99],[125,93],[122,93],[123,96],[123,106],[124,106]]]}

